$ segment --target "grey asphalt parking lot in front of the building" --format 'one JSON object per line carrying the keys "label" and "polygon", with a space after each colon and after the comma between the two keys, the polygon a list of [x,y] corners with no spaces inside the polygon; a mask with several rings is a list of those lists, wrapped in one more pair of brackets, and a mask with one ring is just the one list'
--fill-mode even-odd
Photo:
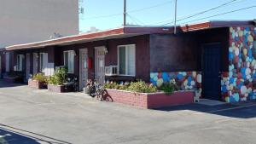
{"label": "grey asphalt parking lot in front of the building", "polygon": [[256,102],[147,110],[0,81],[0,144],[253,144]]}

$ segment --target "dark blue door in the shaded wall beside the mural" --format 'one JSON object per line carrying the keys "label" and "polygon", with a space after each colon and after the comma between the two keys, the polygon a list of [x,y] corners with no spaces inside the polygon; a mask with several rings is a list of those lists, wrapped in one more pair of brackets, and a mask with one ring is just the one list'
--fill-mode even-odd
{"label": "dark blue door in the shaded wall beside the mural", "polygon": [[206,99],[220,100],[220,44],[205,44],[202,55],[202,95]]}

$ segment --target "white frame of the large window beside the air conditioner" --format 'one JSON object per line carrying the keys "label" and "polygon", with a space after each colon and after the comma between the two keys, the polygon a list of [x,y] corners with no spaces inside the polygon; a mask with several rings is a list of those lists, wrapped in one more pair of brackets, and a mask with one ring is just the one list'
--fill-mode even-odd
{"label": "white frame of the large window beside the air conditioner", "polygon": [[[134,57],[135,57],[135,60],[134,60],[134,75],[129,75],[127,74],[128,73],[128,53],[127,53],[127,49],[129,49],[129,46],[133,46],[134,49],[135,49],[135,52],[134,52]],[[125,74],[119,74],[119,48],[120,47],[125,47]],[[119,76],[128,76],[128,77],[136,77],[136,44],[125,44],[125,45],[118,45],[118,48],[117,48],[117,53],[118,53],[118,75]]]}

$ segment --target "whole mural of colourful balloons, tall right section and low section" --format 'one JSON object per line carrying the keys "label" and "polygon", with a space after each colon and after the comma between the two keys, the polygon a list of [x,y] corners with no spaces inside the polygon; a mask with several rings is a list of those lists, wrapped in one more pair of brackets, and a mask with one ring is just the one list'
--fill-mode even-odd
{"label": "whole mural of colourful balloons, tall right section and low section", "polygon": [[[229,71],[222,72],[223,101],[256,99],[256,28],[230,27]],[[198,89],[201,93],[201,72],[151,72],[150,81],[160,87],[175,79],[182,90]]]}

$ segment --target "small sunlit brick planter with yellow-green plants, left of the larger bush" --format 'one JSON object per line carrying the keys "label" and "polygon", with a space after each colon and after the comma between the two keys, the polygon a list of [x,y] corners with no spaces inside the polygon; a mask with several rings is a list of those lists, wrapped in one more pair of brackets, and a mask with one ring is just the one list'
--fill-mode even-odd
{"label": "small sunlit brick planter with yellow-green plants, left of the larger bush", "polygon": [[36,89],[47,89],[47,77],[44,73],[37,73],[28,79],[28,86]]}

